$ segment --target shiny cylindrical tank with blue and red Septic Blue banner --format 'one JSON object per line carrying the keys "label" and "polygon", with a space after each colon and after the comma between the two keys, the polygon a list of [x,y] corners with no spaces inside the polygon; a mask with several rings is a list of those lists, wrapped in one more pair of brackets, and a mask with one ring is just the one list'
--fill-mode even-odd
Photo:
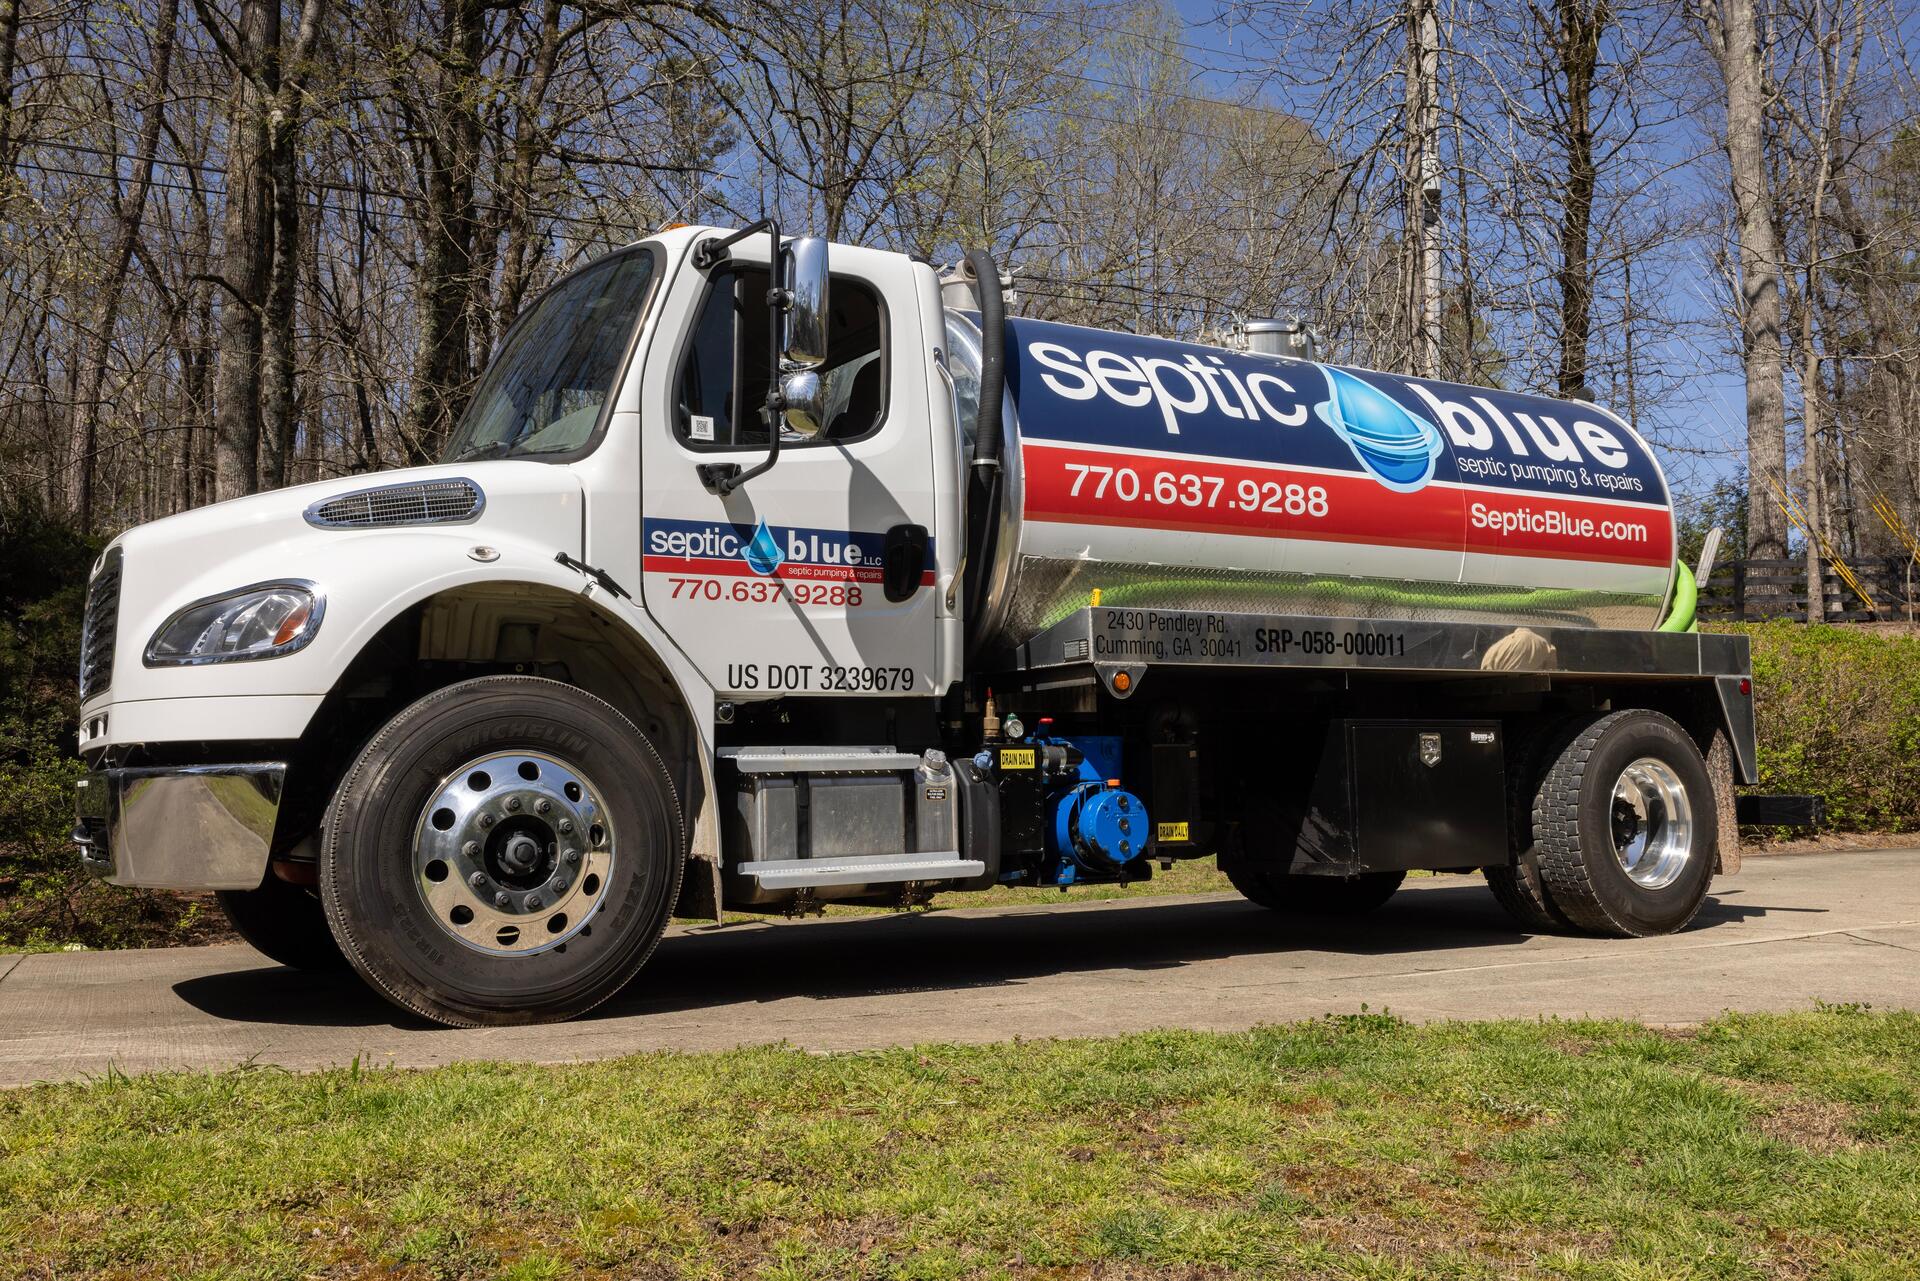
{"label": "shiny cylindrical tank with blue and red Septic Blue banner", "polygon": [[[977,330],[954,317],[956,365]],[[972,338],[973,342],[968,342]],[[1586,401],[1010,319],[972,636],[1104,605],[1653,628],[1667,478]]]}

